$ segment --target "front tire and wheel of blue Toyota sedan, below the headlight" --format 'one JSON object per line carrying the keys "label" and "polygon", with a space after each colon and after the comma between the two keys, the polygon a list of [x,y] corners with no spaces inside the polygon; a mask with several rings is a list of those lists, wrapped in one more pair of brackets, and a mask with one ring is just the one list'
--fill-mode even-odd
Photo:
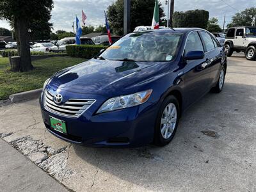
{"label": "front tire and wheel of blue Toyota sedan, below the headlight", "polygon": [[[166,114],[168,114],[169,116],[167,116]],[[166,97],[166,99],[164,99],[163,103],[161,104],[161,107],[157,114],[154,133],[154,145],[164,146],[172,141],[179,124],[179,117],[179,100],[177,100],[177,98],[173,95]],[[166,129],[164,129],[164,126],[166,127]],[[161,131],[163,131],[163,134]],[[166,136],[166,138],[164,138],[164,136]]]}

